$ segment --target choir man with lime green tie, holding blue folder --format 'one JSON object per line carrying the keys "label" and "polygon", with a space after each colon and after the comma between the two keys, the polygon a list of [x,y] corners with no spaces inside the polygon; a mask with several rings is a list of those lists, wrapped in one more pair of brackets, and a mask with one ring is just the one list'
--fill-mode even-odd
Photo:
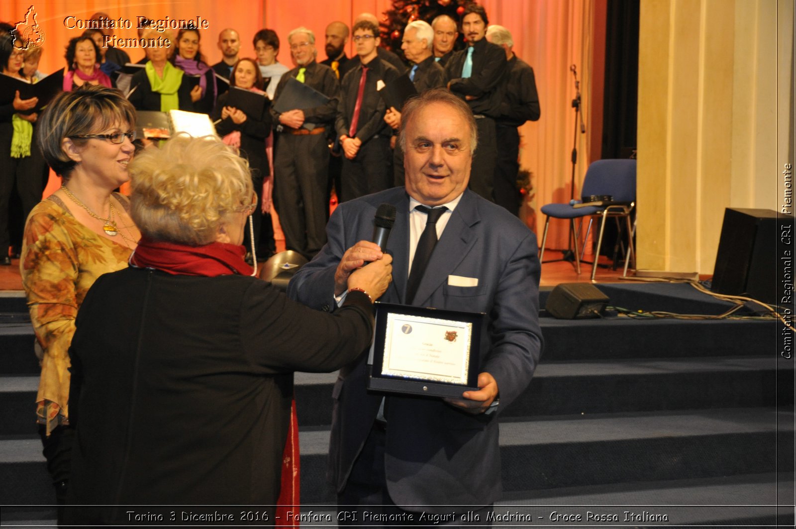
{"label": "choir man with lime green tie, holding blue folder", "polygon": [[[297,66],[279,80],[271,107],[279,133],[275,142],[274,199],[286,248],[312,258],[326,243],[326,134],[337,114],[339,84],[332,69],[315,62],[315,34],[310,29],[294,29],[287,41]],[[279,97],[291,77],[329,97],[329,101],[314,108],[277,112]]]}

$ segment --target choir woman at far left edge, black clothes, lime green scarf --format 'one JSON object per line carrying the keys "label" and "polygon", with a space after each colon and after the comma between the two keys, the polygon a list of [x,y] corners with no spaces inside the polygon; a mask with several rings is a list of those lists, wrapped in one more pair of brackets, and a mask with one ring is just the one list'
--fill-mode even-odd
{"label": "choir woman at far left edge, black clothes, lime green scarf", "polygon": [[[25,51],[14,48],[9,35],[0,35],[0,84],[9,78],[31,82],[23,75],[24,61]],[[38,102],[37,97],[22,99],[19,91],[13,98],[0,101],[0,265],[11,264],[9,247],[12,242],[18,244],[22,224],[45,190],[45,161],[33,141],[38,119],[38,113],[33,111]],[[13,209],[12,198],[21,207]],[[12,211],[14,217],[11,217]],[[12,220],[17,221],[14,237],[10,227]]]}

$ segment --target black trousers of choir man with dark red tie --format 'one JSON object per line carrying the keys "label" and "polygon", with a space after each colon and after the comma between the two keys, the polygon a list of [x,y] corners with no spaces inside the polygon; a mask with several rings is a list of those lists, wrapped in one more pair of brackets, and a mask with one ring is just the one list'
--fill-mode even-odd
{"label": "black trousers of choir man with dark red tie", "polygon": [[375,135],[362,143],[353,160],[343,158],[341,186],[340,202],[392,187],[392,149],[388,135]]}

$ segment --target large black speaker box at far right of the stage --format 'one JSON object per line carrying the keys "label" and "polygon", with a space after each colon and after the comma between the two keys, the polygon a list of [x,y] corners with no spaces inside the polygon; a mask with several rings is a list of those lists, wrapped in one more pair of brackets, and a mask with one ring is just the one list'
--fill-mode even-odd
{"label": "large black speaker box at far right of the stage", "polygon": [[712,291],[776,302],[777,213],[724,210]]}

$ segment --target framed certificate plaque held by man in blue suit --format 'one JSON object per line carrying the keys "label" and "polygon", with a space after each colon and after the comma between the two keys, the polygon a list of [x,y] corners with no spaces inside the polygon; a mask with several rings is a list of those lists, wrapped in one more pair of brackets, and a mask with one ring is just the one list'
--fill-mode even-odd
{"label": "framed certificate plaque held by man in blue suit", "polygon": [[478,390],[483,313],[375,307],[369,390],[453,398]]}

